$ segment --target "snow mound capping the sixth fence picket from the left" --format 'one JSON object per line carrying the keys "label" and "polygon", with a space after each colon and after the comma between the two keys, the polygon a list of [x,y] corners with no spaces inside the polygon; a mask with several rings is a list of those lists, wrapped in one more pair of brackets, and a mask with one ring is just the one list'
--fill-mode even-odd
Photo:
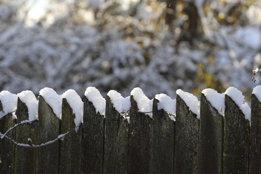
{"label": "snow mound capping the sixth fence picket from the left", "polygon": [[130,109],[131,107],[130,96],[124,98],[120,93],[118,93],[115,90],[110,90],[107,96],[110,97],[113,106],[121,115],[124,115],[121,112],[127,112]]}

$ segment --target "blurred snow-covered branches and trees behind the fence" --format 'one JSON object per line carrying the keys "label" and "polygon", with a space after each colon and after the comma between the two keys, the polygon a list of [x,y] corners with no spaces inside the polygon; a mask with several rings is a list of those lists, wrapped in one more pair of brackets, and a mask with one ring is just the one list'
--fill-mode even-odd
{"label": "blurred snow-covered branches and trees behind the fence", "polygon": [[260,0],[0,0],[0,91],[234,86],[249,100],[260,67]]}

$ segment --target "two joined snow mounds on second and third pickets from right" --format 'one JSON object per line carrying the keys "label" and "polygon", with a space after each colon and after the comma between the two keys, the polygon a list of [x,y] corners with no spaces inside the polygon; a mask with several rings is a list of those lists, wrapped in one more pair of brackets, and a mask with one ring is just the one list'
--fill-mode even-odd
{"label": "two joined snow mounds on second and third pickets from right", "polygon": [[244,103],[244,96],[242,92],[235,87],[229,87],[226,92],[220,94],[214,89],[204,89],[202,93],[206,96],[211,105],[218,110],[218,112],[224,116],[225,111],[225,94],[228,95],[242,110],[245,115],[245,119],[250,121],[251,109],[247,103]]}

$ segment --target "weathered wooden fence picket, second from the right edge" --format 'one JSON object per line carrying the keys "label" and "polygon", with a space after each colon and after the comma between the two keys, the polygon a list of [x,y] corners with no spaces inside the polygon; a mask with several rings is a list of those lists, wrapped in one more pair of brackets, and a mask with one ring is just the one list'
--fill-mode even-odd
{"label": "weathered wooden fence picket, second from the right edge", "polygon": [[249,134],[249,120],[225,95],[223,174],[248,173]]}

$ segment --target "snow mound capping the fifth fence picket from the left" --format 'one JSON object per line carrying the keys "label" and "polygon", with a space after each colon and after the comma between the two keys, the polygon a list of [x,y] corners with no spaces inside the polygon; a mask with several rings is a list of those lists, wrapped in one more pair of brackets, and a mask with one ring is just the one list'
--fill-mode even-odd
{"label": "snow mound capping the fifth fence picket from the left", "polygon": [[105,116],[106,100],[102,97],[101,93],[95,87],[88,87],[84,93],[93,106],[96,109],[96,113],[100,113]]}

